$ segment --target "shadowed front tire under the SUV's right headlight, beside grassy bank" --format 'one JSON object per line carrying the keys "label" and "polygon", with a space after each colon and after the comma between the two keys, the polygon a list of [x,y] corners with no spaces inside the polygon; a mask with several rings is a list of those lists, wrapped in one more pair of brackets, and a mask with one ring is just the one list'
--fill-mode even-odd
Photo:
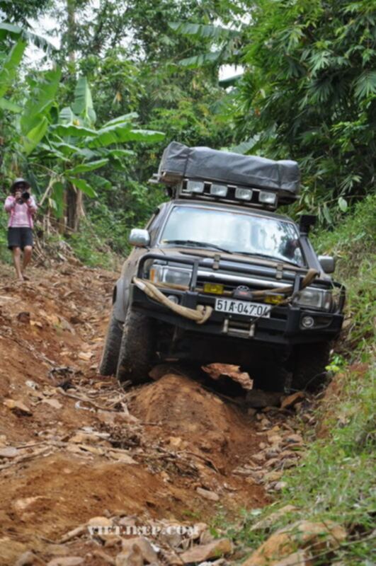
{"label": "shadowed front tire under the SUV's right headlight, beside grassy bank", "polygon": [[292,359],[292,389],[319,391],[328,383],[326,366],[329,363],[330,342],[301,344],[295,347]]}

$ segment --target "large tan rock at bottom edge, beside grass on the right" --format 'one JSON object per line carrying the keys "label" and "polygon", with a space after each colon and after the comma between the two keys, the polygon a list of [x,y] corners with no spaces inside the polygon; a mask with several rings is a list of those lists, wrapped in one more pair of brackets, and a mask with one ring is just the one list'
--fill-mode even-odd
{"label": "large tan rock at bottom edge, beside grass on the right", "polygon": [[345,529],[333,521],[297,521],[273,533],[243,562],[243,566],[277,566],[281,560],[297,550],[309,549],[314,550],[314,553],[334,550],[345,539]]}

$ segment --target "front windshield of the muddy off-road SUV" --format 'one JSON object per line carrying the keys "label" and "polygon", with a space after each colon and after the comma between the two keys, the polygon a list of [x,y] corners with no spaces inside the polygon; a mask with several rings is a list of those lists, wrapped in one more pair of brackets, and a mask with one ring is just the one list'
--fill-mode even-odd
{"label": "front windshield of the muddy off-road SUV", "polygon": [[160,243],[261,255],[304,265],[299,234],[288,221],[200,207],[173,207]]}

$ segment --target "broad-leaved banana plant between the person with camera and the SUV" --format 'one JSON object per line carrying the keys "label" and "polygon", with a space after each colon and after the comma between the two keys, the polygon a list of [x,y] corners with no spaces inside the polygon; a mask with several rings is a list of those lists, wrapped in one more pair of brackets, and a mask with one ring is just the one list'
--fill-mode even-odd
{"label": "broad-leaved banana plant between the person with camera and the SUV", "polygon": [[[124,158],[133,155],[122,146],[126,142],[154,143],[164,138],[162,132],[135,127],[134,112],[118,116],[96,128],[96,112],[86,77],[81,76],[74,91],[72,107],[62,108],[56,123],[50,123],[38,145],[38,160],[57,161],[60,167],[51,172],[42,202],[48,199],[55,214],[62,216],[64,191],[81,191],[96,197],[96,188],[111,186],[109,181],[93,173],[110,164],[125,168]],[[87,176],[89,175],[89,177]]]}

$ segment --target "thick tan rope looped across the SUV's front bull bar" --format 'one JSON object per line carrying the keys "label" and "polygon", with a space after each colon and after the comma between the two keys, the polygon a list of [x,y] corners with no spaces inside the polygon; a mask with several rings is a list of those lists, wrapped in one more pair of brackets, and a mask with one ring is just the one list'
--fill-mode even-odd
{"label": "thick tan rope looped across the SUV's front bull bar", "polygon": [[[314,269],[309,269],[307,274],[304,276],[302,280],[302,286],[300,287],[300,291],[311,284],[314,279],[319,275],[319,272]],[[209,305],[198,305],[196,308],[189,308],[188,306],[182,306],[179,304],[174,303],[166,297],[159,289],[154,285],[149,279],[140,279],[139,277],[133,277],[133,282],[140,289],[143,291],[150,299],[154,299],[154,301],[163,304],[164,306],[171,308],[171,311],[184,316],[185,318],[189,318],[190,320],[194,320],[196,324],[204,324],[212,315],[213,308]],[[292,299],[295,298],[294,287],[290,285],[290,287],[271,287],[270,289],[263,289],[262,291],[253,291],[252,298],[261,299],[263,296],[267,296],[270,293],[280,293],[280,294],[290,294],[287,296],[283,301],[280,303],[273,305],[271,308],[275,308],[277,306],[290,303]],[[255,322],[256,319],[252,320]]]}

